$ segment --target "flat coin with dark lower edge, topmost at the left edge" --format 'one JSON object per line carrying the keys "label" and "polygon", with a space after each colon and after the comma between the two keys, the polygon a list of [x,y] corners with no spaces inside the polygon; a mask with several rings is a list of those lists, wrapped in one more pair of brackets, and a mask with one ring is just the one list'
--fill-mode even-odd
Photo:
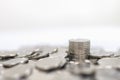
{"label": "flat coin with dark lower edge, topmost at the left edge", "polygon": [[0,59],[8,59],[16,57],[16,51],[1,51],[0,52]]}

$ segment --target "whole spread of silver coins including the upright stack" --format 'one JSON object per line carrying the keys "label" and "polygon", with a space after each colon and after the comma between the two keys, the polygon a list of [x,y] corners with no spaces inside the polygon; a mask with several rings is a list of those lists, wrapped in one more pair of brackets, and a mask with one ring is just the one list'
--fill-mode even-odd
{"label": "whole spread of silver coins including the upright stack", "polygon": [[87,39],[0,51],[0,80],[120,80],[119,53],[90,48]]}

